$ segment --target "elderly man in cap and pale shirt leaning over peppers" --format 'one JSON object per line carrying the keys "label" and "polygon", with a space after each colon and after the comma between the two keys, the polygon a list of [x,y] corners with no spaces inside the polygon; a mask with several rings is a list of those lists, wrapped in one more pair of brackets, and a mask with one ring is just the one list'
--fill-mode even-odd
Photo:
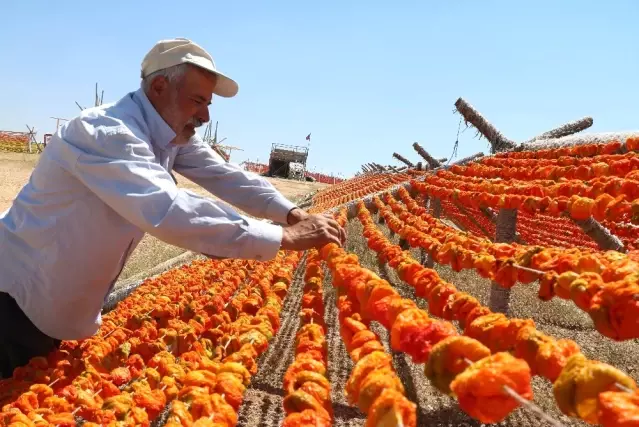
{"label": "elderly man in cap and pale shirt leaning over peppers", "polygon": [[[211,257],[264,261],[343,242],[333,219],[297,208],[196,135],[212,95],[237,91],[200,46],[165,40],[144,58],[139,90],[57,131],[0,215],[0,377],[59,340],[93,335],[144,233]],[[273,223],[178,188],[171,171]]]}

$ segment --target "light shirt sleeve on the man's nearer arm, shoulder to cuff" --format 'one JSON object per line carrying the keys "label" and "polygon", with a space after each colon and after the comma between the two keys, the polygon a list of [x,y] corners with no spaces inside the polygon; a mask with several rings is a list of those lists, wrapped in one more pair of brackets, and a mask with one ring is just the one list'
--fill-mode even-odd
{"label": "light shirt sleeve on the man's nearer arm, shoulder to cuff", "polygon": [[282,228],[244,217],[178,188],[149,144],[132,134],[108,135],[95,149],[76,151],[74,175],[115,212],[141,230],[185,249],[220,258],[269,260]]}

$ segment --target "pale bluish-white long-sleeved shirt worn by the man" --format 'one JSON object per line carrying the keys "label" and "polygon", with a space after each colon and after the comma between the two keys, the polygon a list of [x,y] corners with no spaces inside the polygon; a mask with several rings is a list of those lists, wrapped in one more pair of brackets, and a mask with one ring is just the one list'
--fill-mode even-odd
{"label": "pale bluish-white long-sleeved shirt worn by the man", "polygon": [[98,330],[104,300],[144,233],[223,258],[265,261],[279,250],[279,225],[180,189],[170,172],[276,223],[295,205],[201,138],[174,146],[174,137],[141,89],[85,110],[51,138],[0,214],[0,291],[45,334],[69,340]]}

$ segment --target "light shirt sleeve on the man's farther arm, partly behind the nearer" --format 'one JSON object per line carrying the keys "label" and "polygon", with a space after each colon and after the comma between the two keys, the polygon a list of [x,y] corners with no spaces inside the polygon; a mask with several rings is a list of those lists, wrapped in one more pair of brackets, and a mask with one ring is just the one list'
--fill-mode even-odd
{"label": "light shirt sleeve on the man's farther arm, partly behind the nearer", "polygon": [[287,224],[288,213],[296,207],[266,179],[226,163],[198,136],[180,147],[173,168],[225,202],[255,217]]}

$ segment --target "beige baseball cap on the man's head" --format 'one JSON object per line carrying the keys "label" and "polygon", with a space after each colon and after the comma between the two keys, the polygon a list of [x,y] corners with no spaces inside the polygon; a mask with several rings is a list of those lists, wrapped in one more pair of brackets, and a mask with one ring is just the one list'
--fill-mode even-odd
{"label": "beige baseball cap on the man's head", "polygon": [[217,75],[214,94],[224,98],[231,98],[237,94],[237,83],[215,68],[213,57],[191,40],[184,38],[157,42],[142,60],[142,78],[156,71],[184,63],[193,64]]}

